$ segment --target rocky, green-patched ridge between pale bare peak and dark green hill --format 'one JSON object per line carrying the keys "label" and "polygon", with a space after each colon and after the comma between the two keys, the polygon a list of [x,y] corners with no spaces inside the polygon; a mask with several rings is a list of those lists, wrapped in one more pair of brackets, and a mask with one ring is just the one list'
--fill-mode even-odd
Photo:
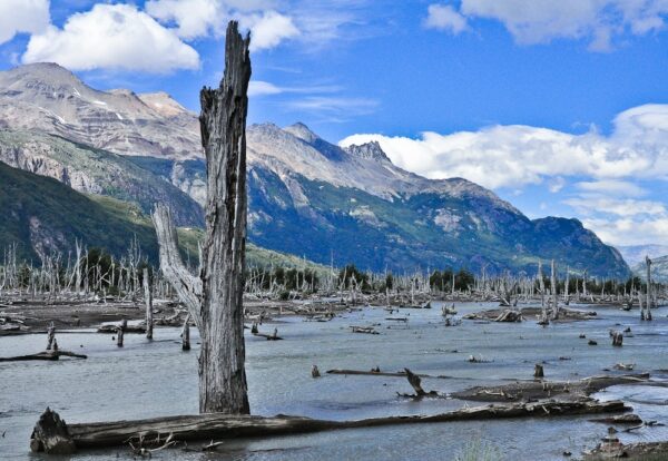
{"label": "rocky, green-patched ridge between pale bare peak and dark green hill", "polygon": [[177,225],[204,225],[204,212],[193,198],[128,157],[56,135],[0,130],[0,161],[56,178],[78,192],[134,202],[144,213],[164,203]]}

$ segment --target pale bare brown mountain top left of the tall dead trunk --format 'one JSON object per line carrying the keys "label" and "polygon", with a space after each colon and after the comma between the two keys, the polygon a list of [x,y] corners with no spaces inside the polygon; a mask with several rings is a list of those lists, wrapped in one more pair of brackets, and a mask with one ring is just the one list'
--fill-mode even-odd
{"label": "pale bare brown mountain top left of the tall dead trunk", "polygon": [[30,129],[122,155],[202,155],[197,118],[166,94],[98,91],[56,63],[0,72],[0,128]]}

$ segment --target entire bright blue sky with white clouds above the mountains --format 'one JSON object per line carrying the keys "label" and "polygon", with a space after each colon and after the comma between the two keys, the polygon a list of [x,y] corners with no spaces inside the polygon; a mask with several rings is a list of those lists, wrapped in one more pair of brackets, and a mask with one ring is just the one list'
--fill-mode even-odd
{"label": "entire bright blue sky with white clouds above the mountains", "polygon": [[668,0],[0,0],[0,70],[55,61],[197,111],[229,19],[252,33],[249,122],[668,245]]}

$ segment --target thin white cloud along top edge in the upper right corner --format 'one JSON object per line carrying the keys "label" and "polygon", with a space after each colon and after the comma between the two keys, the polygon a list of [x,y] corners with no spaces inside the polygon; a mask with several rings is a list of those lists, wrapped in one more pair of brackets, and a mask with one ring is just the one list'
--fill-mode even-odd
{"label": "thin white cloud along top edge in the upper right corner", "polygon": [[613,38],[664,29],[666,0],[462,0],[468,18],[502,22],[519,43],[588,39],[590,49],[607,51]]}

